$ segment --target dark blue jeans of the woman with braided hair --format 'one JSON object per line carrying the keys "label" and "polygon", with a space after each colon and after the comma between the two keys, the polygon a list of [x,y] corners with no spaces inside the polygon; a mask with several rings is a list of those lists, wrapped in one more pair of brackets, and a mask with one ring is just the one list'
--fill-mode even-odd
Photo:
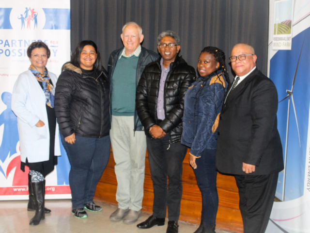
{"label": "dark blue jeans of the woman with braided hair", "polygon": [[202,192],[202,224],[204,226],[215,226],[217,217],[216,151],[205,149],[202,152],[202,157],[196,159],[197,168],[194,169],[198,187]]}

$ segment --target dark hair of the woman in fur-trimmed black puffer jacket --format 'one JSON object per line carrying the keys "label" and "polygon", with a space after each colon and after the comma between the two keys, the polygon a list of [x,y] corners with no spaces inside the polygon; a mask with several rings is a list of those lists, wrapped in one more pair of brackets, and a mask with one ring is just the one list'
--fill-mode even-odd
{"label": "dark hair of the woman in fur-trimmed black puffer jacket", "polygon": [[101,66],[100,52],[98,51],[97,45],[92,40],[82,40],[81,42],[78,43],[76,49],[74,50],[74,52],[71,56],[71,61],[70,61],[71,64],[76,66],[76,67],[80,67],[80,55],[81,55],[83,48],[87,45],[93,46],[93,48],[95,49],[95,51],[97,53],[97,58],[96,58],[95,63],[93,64],[93,66],[96,69],[101,71],[102,66]]}

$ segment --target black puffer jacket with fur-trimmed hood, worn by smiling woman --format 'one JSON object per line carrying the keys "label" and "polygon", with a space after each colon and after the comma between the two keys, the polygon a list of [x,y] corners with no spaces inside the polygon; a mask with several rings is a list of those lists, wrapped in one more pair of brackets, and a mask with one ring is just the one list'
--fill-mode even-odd
{"label": "black puffer jacket with fur-trimmed hood, worn by smiling woman", "polygon": [[55,90],[55,113],[64,137],[75,133],[84,137],[109,135],[108,73],[95,71],[90,77],[71,63],[63,66]]}

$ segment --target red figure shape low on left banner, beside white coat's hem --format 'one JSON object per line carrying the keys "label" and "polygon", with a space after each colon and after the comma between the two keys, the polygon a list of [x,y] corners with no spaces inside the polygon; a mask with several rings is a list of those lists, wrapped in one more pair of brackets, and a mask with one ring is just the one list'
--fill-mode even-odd
{"label": "red figure shape low on left banner, beside white coat's hem", "polygon": [[[20,155],[15,157],[6,169],[6,177],[15,169],[12,186],[28,186],[29,167],[25,166],[25,172],[20,169]],[[28,194],[28,191],[27,191]]]}

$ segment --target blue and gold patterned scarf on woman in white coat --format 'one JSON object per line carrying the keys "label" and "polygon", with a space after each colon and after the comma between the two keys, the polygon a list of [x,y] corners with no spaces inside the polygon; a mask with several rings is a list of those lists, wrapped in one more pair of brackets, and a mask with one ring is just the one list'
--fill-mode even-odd
{"label": "blue and gold patterned scarf on woman in white coat", "polygon": [[34,66],[29,67],[30,71],[34,75],[34,77],[43,84],[43,92],[45,94],[45,99],[47,102],[47,106],[54,108],[54,96],[55,96],[55,88],[49,83],[49,75],[47,68],[45,67],[44,74],[41,74]]}

